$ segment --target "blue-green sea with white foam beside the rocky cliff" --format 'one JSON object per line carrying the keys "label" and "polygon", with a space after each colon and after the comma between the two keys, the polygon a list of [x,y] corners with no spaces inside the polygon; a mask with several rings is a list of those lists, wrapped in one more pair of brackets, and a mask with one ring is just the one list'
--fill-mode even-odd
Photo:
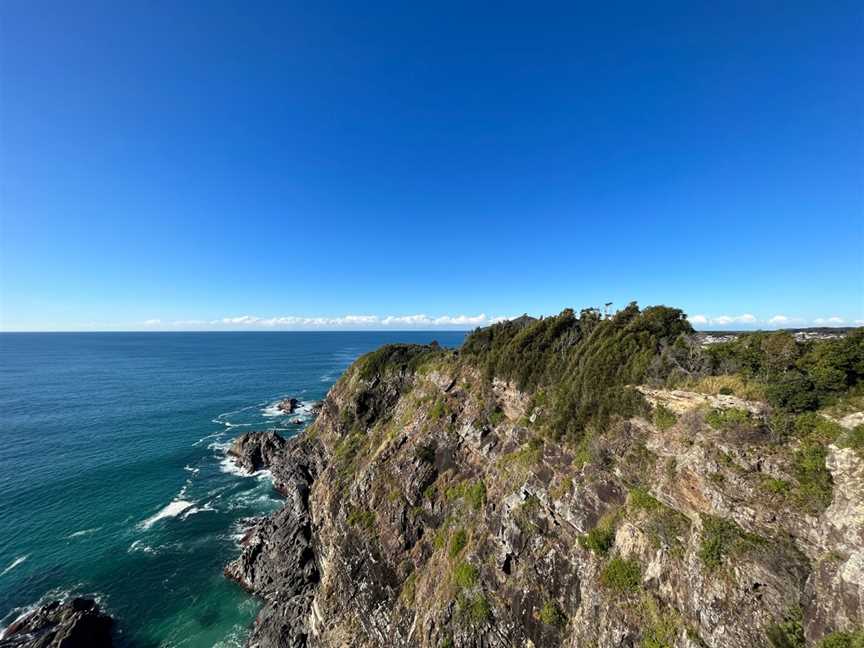
{"label": "blue-green sea with white foam beside the rocky cliff", "polygon": [[0,627],[76,593],[118,619],[122,646],[242,645],[258,603],[222,569],[244,521],[280,502],[266,474],[233,469],[230,440],[296,434],[274,404],[323,398],[382,344],[463,337],[0,334]]}

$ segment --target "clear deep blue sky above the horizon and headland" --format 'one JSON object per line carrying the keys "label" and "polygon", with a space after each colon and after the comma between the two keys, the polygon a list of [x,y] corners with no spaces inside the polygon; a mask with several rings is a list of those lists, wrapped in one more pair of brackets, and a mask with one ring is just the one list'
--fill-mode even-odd
{"label": "clear deep blue sky above the horizon and headland", "polygon": [[0,328],[860,323],[862,70],[856,2],[5,0]]}

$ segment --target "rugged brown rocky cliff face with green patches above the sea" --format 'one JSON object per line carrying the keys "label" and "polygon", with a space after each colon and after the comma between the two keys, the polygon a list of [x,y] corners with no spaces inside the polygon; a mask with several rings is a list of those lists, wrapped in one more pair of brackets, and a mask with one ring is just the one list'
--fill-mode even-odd
{"label": "rugged brown rocky cliff face with green patches above the sea", "polygon": [[662,388],[560,443],[539,399],[464,357],[399,353],[349,369],[301,437],[238,446],[286,496],[226,569],[265,601],[250,645],[750,648],[862,626],[856,450],[811,456],[762,403]]}

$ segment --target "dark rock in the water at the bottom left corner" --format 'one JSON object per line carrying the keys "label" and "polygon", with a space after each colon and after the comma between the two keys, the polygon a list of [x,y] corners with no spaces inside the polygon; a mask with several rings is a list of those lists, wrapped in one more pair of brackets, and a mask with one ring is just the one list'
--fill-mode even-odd
{"label": "dark rock in the water at the bottom left corner", "polygon": [[111,625],[92,599],[52,601],[6,628],[0,648],[110,648]]}

